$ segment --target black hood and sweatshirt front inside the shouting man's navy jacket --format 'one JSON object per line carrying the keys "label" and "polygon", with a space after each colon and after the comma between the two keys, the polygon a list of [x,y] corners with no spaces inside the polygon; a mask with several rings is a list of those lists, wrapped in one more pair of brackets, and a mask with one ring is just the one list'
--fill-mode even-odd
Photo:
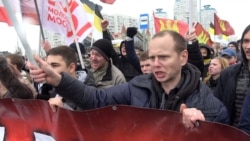
{"label": "black hood and sweatshirt front inside the shouting man's navy jacket", "polygon": [[200,81],[199,70],[191,65],[186,64],[182,67],[181,81],[179,87],[174,94],[166,95],[161,84],[152,76],[152,83],[156,96],[150,97],[150,107],[157,109],[167,109],[173,111],[179,111],[180,105],[185,102],[188,96],[190,96],[199,86]]}

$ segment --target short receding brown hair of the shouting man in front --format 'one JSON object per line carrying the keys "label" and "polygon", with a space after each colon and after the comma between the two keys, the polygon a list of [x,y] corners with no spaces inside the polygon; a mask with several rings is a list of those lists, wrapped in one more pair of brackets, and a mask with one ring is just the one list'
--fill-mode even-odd
{"label": "short receding brown hair of the shouting man in front", "polygon": [[177,53],[181,53],[182,51],[187,49],[187,41],[183,36],[181,36],[176,31],[172,30],[162,30],[158,33],[156,33],[152,39],[158,38],[158,37],[164,37],[165,35],[170,35],[173,37],[174,44],[175,44],[175,50]]}

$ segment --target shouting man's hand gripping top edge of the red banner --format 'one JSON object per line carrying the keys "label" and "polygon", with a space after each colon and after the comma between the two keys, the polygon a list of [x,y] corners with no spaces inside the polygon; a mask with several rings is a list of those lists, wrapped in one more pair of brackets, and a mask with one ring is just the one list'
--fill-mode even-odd
{"label": "shouting man's hand gripping top edge of the red banner", "polygon": [[200,110],[196,108],[187,108],[186,104],[181,104],[182,122],[186,128],[194,128],[198,121],[205,121],[205,117]]}

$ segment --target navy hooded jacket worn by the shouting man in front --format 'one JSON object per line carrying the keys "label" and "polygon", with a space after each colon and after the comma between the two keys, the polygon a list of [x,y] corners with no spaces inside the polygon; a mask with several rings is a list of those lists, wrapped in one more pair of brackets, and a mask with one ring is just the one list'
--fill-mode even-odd
{"label": "navy hooded jacket worn by the shouting man in front", "polygon": [[187,107],[201,110],[208,121],[228,122],[226,108],[199,80],[200,72],[191,64],[182,69],[183,80],[179,90],[168,100],[161,98],[152,74],[140,75],[130,82],[106,89],[86,86],[65,73],[61,75],[62,80],[56,87],[58,93],[84,109],[123,104],[179,111],[180,104],[185,103]]}

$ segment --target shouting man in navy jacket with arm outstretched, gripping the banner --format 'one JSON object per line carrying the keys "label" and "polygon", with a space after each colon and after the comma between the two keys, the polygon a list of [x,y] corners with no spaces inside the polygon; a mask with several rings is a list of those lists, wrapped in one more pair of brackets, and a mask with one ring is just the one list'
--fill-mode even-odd
{"label": "shouting man in navy jacket with arm outstretched, gripping the banner", "polygon": [[149,58],[152,74],[107,89],[90,87],[65,73],[55,73],[37,56],[41,69],[29,65],[35,81],[52,84],[61,96],[80,107],[126,104],[181,111],[184,125],[191,128],[197,120],[227,123],[225,106],[201,82],[200,71],[187,63],[187,44],[180,34],[169,30],[155,34],[149,43]]}

